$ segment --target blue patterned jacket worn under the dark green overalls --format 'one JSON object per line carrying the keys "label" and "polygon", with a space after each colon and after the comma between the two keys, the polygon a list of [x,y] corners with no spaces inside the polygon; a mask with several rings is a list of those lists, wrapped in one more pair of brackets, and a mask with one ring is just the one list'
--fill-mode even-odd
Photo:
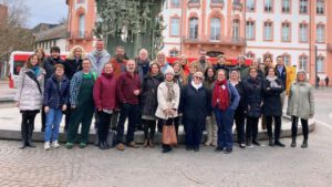
{"label": "blue patterned jacket worn under the dark green overalls", "polygon": [[[93,71],[91,71],[90,73],[92,74],[93,81],[95,81],[97,77],[96,73]],[[83,80],[83,71],[76,72],[73,79],[71,80],[70,102],[72,107],[75,107],[79,104],[77,97],[80,94],[82,80]]]}

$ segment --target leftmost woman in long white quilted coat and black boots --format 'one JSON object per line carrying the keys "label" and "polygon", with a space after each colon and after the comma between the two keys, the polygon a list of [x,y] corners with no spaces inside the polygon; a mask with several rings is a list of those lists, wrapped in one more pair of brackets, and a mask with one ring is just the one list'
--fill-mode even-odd
{"label": "leftmost woman in long white quilted coat and black boots", "polygon": [[20,148],[35,147],[31,141],[34,118],[43,104],[44,76],[45,71],[39,66],[38,55],[30,55],[25,66],[20,71],[18,92],[14,98],[22,114]]}

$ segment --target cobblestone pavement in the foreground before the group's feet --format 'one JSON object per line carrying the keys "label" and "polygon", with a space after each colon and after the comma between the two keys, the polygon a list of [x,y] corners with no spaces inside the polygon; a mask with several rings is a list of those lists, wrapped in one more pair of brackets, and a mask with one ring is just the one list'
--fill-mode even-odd
{"label": "cobblestone pavement in the foreground before the group's feet", "polygon": [[[63,146],[59,149],[19,149],[18,142],[0,141],[0,186],[59,187],[328,187],[332,184],[331,129],[317,127],[309,148],[235,147],[232,154],[183,146],[170,154],[160,147],[100,150]],[[302,137],[299,136],[298,145]]]}

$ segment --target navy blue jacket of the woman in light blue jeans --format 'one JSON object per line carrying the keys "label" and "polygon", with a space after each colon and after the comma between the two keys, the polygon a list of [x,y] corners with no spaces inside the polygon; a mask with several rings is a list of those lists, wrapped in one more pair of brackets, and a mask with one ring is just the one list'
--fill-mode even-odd
{"label": "navy blue jacket of the woman in light blue jeans", "polygon": [[69,104],[70,80],[64,79],[59,82],[53,74],[45,84],[44,106],[59,110],[62,105]]}

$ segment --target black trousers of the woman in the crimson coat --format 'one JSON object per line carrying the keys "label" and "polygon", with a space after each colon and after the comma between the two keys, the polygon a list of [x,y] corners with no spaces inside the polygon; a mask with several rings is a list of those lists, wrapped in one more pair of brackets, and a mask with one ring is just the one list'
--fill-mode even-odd
{"label": "black trousers of the woman in the crimson coat", "polygon": [[100,142],[106,142],[108,136],[108,131],[111,126],[112,114],[107,114],[103,111],[98,112],[100,123],[98,123],[98,139]]}

